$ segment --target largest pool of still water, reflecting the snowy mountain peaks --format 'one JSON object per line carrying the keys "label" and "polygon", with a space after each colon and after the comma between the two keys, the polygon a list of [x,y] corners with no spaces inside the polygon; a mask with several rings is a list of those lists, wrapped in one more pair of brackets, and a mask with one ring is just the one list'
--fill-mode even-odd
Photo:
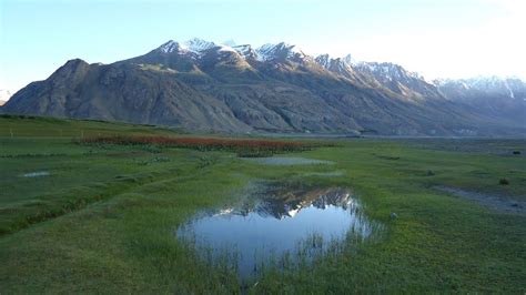
{"label": "largest pool of still water, reflecting the snowy mountain peaks", "polygon": [[198,214],[176,236],[202,258],[226,263],[245,279],[265,266],[312,263],[344,241],[364,242],[381,227],[347,190],[336,187],[251,195],[237,206]]}

